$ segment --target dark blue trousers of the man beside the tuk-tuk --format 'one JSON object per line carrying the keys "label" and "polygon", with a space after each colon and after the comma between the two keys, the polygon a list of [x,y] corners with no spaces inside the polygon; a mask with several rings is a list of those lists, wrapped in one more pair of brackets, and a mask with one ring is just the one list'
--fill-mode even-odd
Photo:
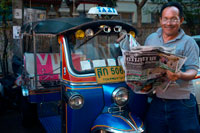
{"label": "dark blue trousers of the man beside the tuk-tuk", "polygon": [[145,123],[147,133],[200,133],[195,96],[178,100],[153,98]]}

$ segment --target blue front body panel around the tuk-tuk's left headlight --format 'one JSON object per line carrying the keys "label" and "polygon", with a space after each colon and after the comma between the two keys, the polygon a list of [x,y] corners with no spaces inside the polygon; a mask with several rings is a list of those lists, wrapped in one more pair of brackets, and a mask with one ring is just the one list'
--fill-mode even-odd
{"label": "blue front body panel around the tuk-tuk's left headlight", "polygon": [[[85,87],[91,88],[94,86],[84,86],[84,88]],[[83,88],[83,86],[80,88]],[[84,97],[84,106],[81,109],[74,110],[67,106],[68,132],[80,133],[81,131],[81,133],[89,133],[91,125],[104,107],[103,90],[102,88],[97,88],[68,91],[76,91]]]}

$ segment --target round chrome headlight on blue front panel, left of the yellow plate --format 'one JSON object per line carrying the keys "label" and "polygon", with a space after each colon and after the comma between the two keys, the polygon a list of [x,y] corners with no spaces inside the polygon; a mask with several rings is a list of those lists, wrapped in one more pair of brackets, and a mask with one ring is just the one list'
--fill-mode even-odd
{"label": "round chrome headlight on blue front panel, left of the yellow plate", "polygon": [[71,95],[68,104],[72,109],[80,109],[83,107],[84,99],[80,94]]}

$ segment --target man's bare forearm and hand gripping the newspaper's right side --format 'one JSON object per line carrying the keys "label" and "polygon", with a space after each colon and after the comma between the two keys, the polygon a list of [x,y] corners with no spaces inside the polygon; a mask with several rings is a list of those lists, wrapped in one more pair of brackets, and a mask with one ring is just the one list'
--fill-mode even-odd
{"label": "man's bare forearm and hand gripping the newspaper's right side", "polygon": [[167,70],[167,77],[172,81],[176,81],[178,79],[192,80],[195,78],[196,75],[197,75],[197,71],[194,69],[188,69],[186,72],[179,71],[177,73],[173,73]]}

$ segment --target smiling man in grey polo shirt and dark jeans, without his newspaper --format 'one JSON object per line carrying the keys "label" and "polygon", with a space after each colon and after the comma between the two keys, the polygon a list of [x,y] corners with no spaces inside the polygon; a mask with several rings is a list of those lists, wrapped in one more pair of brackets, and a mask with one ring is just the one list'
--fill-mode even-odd
{"label": "smiling man in grey polo shirt and dark jeans, without his newspaper", "polygon": [[178,3],[164,4],[160,15],[161,28],[147,37],[145,45],[175,47],[175,53],[186,56],[187,60],[179,72],[167,71],[172,82],[166,91],[156,89],[146,116],[146,130],[148,133],[200,133],[191,81],[199,67],[199,48],[180,28],[184,18]]}

